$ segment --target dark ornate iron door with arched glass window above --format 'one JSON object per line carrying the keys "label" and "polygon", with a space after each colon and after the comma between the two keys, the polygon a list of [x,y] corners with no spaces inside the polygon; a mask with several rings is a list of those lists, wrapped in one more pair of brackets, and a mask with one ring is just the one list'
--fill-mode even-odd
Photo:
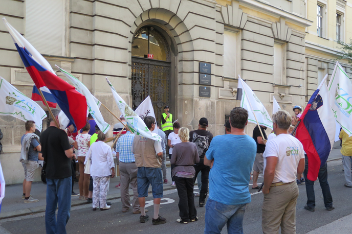
{"label": "dark ornate iron door with arched glass window above", "polygon": [[[132,41],[131,85],[133,109],[150,96],[158,121],[170,105],[170,50],[161,33],[151,26],[140,28]],[[148,58],[153,55],[153,59]]]}

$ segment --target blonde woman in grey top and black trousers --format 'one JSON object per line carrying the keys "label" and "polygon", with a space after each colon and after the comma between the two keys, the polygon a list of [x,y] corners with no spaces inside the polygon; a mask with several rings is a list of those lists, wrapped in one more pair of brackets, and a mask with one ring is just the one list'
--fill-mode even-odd
{"label": "blonde woman in grey top and black trousers", "polygon": [[194,206],[194,174],[193,165],[199,162],[197,146],[189,142],[188,128],[179,130],[181,143],[174,145],[171,157],[171,165],[175,165],[172,169],[172,178],[176,183],[177,192],[179,194],[180,217],[177,222],[188,223],[197,221],[197,210]]}

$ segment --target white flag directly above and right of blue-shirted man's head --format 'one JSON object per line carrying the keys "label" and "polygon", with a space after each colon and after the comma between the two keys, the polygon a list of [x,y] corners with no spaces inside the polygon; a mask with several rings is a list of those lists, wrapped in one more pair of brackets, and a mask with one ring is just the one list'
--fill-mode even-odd
{"label": "white flag directly above and right of blue-shirted man's head", "polygon": [[256,117],[259,125],[273,129],[273,122],[271,121],[268,111],[257,98],[253,90],[238,76],[237,90],[240,88],[242,89],[240,107],[248,110],[248,122],[257,124],[255,121]]}

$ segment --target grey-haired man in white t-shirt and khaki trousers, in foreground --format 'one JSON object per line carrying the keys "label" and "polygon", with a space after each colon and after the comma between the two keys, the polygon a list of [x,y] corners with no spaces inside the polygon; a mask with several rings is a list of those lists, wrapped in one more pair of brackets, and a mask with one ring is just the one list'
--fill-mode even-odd
{"label": "grey-haired man in white t-shirt and khaki trousers, in foreground", "polygon": [[264,158],[264,201],[261,227],[264,234],[296,233],[296,203],[298,186],[296,174],[304,171],[302,144],[288,134],[291,125],[289,112],[273,114],[276,137],[267,142]]}

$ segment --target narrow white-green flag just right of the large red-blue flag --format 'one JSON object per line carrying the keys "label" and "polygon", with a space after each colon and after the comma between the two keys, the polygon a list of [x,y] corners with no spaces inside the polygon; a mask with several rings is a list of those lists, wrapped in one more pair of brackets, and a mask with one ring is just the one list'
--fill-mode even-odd
{"label": "narrow white-green flag just right of the large red-blue flag", "polygon": [[110,129],[110,125],[104,121],[103,115],[100,113],[99,107],[100,102],[96,99],[87,87],[84,86],[76,77],[72,76],[70,73],[66,72],[64,69],[56,66],[60,72],[62,72],[75,86],[75,88],[85,96],[87,100],[88,111],[91,113],[95,123],[98,125],[99,129],[106,133]]}

